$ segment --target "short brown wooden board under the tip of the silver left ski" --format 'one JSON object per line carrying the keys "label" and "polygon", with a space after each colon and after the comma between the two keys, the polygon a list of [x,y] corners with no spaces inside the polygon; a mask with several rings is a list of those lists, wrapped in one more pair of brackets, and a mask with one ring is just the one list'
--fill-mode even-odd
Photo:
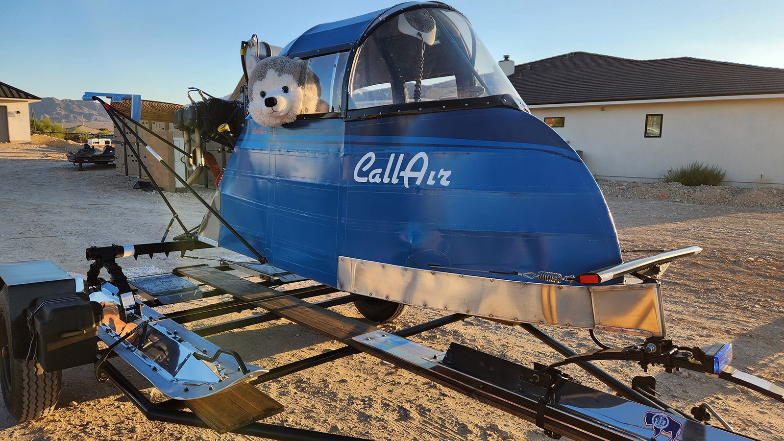
{"label": "short brown wooden board under the tip of the silver left ski", "polygon": [[278,414],[285,406],[248,383],[198,399],[185,400],[201,421],[218,433],[226,433]]}

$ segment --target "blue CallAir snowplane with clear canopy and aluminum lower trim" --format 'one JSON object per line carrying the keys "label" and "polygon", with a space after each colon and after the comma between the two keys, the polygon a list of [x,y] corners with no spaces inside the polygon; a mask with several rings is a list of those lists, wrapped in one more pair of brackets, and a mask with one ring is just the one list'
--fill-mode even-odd
{"label": "blue CallAir snowplane with clear canopy and aluminum lower trim", "polygon": [[[277,127],[246,118],[213,202],[270,264],[368,296],[358,307],[375,319],[416,304],[664,332],[655,284],[592,299],[586,285],[632,272],[597,272],[622,264],[601,191],[451,6],[320,24],[280,55],[307,61],[328,111]],[[199,238],[256,255],[209,214]]]}

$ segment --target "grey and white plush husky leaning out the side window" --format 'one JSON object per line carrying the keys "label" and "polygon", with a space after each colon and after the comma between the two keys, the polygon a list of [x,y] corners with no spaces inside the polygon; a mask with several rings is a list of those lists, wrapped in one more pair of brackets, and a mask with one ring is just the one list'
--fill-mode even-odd
{"label": "grey and white plush husky leaning out the side window", "polygon": [[248,111],[254,121],[274,127],[292,122],[302,113],[328,111],[328,104],[320,100],[318,78],[308,71],[305,61],[286,56],[253,61],[248,75]]}

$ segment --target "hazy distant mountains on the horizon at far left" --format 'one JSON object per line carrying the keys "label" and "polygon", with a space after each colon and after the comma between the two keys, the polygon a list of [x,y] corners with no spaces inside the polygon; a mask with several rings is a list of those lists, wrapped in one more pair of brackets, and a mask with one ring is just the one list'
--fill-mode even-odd
{"label": "hazy distant mountains on the horizon at far left", "polygon": [[49,117],[65,127],[85,126],[112,129],[111,119],[96,101],[58,100],[53,97],[41,98],[38,103],[30,103],[31,118]]}

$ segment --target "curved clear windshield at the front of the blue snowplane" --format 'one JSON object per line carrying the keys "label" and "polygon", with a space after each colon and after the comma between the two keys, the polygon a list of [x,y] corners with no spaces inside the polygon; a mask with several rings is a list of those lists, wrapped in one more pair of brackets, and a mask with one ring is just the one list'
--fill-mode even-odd
{"label": "curved clear windshield at the front of the blue snowplane", "polygon": [[376,28],[358,49],[349,109],[509,94],[525,104],[470,23],[447,9],[415,9]]}

